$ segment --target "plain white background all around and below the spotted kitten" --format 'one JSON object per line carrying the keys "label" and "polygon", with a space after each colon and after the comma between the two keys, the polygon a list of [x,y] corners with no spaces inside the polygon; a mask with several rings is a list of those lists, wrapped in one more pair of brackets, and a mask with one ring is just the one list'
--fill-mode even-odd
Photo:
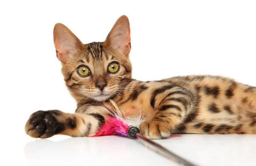
{"label": "plain white background all around and below the spotted kitten", "polygon": [[[55,54],[55,23],[67,25],[83,43],[104,41],[123,14],[131,25],[135,79],[213,74],[256,86],[254,0],[1,1],[0,162],[7,163],[0,165],[115,165],[120,156],[127,156],[120,165],[131,165],[132,160],[138,165],[170,164],[125,138],[56,136],[40,140],[24,132],[29,115],[37,110],[73,113],[76,109]],[[187,135],[158,142],[199,165],[234,166],[253,165],[255,138]],[[99,155],[101,152],[105,154]]]}

